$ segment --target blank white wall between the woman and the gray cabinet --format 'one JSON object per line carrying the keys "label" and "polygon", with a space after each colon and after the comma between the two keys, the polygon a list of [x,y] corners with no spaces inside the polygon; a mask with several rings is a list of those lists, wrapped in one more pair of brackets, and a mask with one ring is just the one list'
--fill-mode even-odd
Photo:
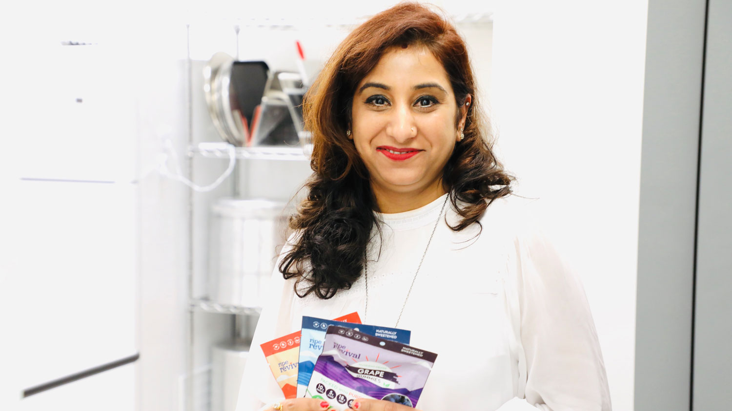
{"label": "blank white wall between the woman and the gray cabinet", "polygon": [[499,1],[493,110],[519,193],[580,273],[613,409],[632,410],[647,1]]}

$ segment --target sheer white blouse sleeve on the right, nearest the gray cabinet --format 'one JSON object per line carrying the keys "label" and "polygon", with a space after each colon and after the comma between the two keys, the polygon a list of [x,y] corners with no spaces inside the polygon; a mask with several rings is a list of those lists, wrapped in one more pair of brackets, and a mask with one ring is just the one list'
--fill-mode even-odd
{"label": "sheer white blouse sleeve on the right, nearest the gray cabinet", "polygon": [[506,283],[520,336],[518,396],[498,411],[610,411],[600,342],[583,284],[531,214],[517,221]]}

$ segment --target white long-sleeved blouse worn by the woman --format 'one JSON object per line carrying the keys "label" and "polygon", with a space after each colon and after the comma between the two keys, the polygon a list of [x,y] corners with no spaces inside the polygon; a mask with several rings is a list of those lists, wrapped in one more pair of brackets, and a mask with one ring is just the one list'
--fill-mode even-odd
{"label": "white long-sleeved blouse worn by the woman", "polygon": [[[446,197],[417,210],[378,213],[384,224],[368,252],[368,307],[363,276],[332,299],[301,299],[294,280],[275,269],[236,411],[283,398],[259,345],[299,330],[303,315],[357,311],[363,323],[396,325]],[[452,231],[444,217],[438,223],[398,326],[411,330],[410,345],[438,355],[419,410],[610,410],[583,285],[528,204],[513,195],[493,201],[480,219],[482,232],[477,224]],[[445,210],[454,226],[458,215],[449,200]]]}

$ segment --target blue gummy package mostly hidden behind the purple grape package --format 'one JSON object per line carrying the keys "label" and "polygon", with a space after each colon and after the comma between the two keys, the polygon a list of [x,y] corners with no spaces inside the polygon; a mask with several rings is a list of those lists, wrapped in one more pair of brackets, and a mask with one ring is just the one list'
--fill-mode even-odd
{"label": "blue gummy package mostly hidden behind the purple grape package", "polygon": [[297,371],[297,396],[302,398],[305,396],[307,384],[310,383],[310,376],[313,375],[315,369],[315,361],[323,352],[323,341],[325,339],[325,331],[329,326],[342,326],[360,331],[363,334],[372,337],[380,337],[390,339],[403,344],[409,344],[411,331],[402,329],[392,329],[389,327],[370,326],[368,324],[354,325],[346,321],[325,320],[323,318],[302,317],[302,343],[299,349],[299,364]]}

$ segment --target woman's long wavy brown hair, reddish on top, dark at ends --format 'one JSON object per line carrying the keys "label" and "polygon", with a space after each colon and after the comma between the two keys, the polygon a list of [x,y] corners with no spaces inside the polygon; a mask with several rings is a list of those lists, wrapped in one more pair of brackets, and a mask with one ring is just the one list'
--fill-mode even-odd
{"label": "woman's long wavy brown hair, reddish on top, dark at ends", "polygon": [[[480,224],[490,203],[511,193],[514,180],[491,151],[488,123],[481,104],[465,42],[455,27],[430,8],[400,3],[358,26],[326,62],[303,101],[305,128],[313,134],[313,174],[305,183],[307,198],[290,220],[296,235],[280,261],[285,279],[296,278],[298,296],[321,299],[348,289],[361,276],[365,250],[379,221],[369,173],[346,137],[351,103],[359,82],[378,64],[389,47],[427,47],[441,62],[458,107],[466,96],[472,104],[465,138],[455,145],[442,174],[452,207],[461,220],[454,231]],[[460,120],[460,110],[455,126]],[[481,227],[482,228],[482,227]],[[380,231],[378,231],[380,232]]]}

